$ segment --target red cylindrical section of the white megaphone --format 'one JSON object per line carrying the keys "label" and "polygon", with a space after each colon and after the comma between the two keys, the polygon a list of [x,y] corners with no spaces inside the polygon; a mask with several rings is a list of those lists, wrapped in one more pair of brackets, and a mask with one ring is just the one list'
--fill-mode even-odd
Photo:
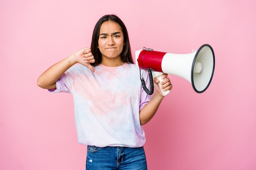
{"label": "red cylindrical section of the white megaphone", "polygon": [[139,53],[138,65],[139,68],[147,70],[148,68],[153,69],[156,72],[162,71],[162,59],[167,52],[148,51],[142,50]]}

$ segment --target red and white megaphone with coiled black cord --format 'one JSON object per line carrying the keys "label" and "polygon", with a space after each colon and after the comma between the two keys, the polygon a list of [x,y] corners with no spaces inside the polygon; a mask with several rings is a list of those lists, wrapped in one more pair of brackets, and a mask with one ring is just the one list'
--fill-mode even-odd
{"label": "red and white megaphone with coiled black cord", "polygon": [[[213,78],[215,57],[209,44],[202,45],[197,51],[193,49],[189,54],[158,52],[144,47],[135,51],[135,57],[140,69],[152,71],[153,78],[160,81],[160,87],[163,81],[161,75],[164,73],[186,79],[197,93],[204,92]],[[170,90],[162,91],[162,94],[166,96],[169,92]]]}

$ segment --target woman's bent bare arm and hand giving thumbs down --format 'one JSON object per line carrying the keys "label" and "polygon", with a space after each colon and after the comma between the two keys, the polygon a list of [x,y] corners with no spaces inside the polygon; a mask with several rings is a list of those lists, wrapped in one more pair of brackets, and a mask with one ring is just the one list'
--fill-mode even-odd
{"label": "woman's bent bare arm and hand giving thumbs down", "polygon": [[52,65],[37,79],[37,85],[43,89],[55,89],[56,81],[75,63],[80,63],[90,68],[94,72],[94,68],[90,63],[94,63],[94,57],[90,48],[82,48],[58,63]]}

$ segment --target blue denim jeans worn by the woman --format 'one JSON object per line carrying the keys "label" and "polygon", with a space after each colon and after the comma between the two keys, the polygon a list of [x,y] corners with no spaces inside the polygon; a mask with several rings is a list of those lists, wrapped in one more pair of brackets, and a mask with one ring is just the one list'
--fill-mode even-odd
{"label": "blue denim jeans worn by the woman", "polygon": [[87,146],[86,170],[147,170],[144,148]]}

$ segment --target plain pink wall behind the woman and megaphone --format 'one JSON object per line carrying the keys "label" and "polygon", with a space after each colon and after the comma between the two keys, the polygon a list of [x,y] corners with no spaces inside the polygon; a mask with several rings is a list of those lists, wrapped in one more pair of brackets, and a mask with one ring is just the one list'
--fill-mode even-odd
{"label": "plain pink wall behind the woman and megaphone", "polygon": [[36,80],[90,46],[97,20],[115,13],[133,54],[144,46],[186,54],[210,44],[216,56],[202,94],[169,75],[173,89],[144,126],[148,170],[255,170],[255,7],[254,0],[2,0],[0,169],[85,169],[72,95],[50,94]]}

